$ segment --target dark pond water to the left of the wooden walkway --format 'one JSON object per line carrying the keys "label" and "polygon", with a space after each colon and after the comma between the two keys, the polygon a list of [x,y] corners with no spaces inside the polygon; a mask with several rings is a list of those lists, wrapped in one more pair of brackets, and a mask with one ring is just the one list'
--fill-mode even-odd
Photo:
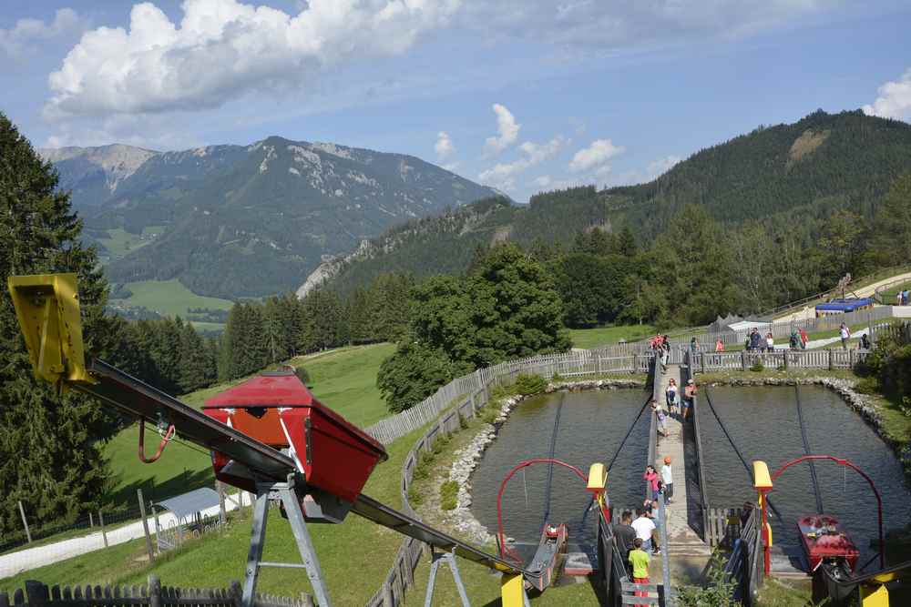
{"label": "dark pond water to the left of the wooden walkway", "polygon": [[[650,391],[640,389],[588,390],[557,392],[520,403],[510,413],[471,477],[472,511],[477,520],[484,523],[488,531],[496,533],[496,494],[500,482],[519,461],[549,456],[560,400],[563,400],[563,407],[555,457],[588,474],[590,464],[609,463],[649,396]],[[641,504],[649,423],[646,411],[609,472],[608,495],[612,505]],[[524,479],[520,471],[509,482],[503,497],[507,536],[537,545],[546,508],[547,478],[548,465],[537,464],[525,469]],[[584,517],[588,505],[589,493],[585,484],[571,470],[555,466],[549,521],[566,522],[573,543],[595,541],[596,517],[593,513]],[[585,526],[580,533],[583,517]]]}

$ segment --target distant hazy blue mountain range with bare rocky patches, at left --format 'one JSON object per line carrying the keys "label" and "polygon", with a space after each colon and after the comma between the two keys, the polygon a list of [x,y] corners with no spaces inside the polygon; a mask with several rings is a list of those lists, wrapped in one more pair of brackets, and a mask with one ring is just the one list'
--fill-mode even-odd
{"label": "distant hazy blue mountain range with bare rocky patches, at left", "polygon": [[108,278],[179,278],[222,298],[296,288],[324,258],[386,228],[496,195],[416,157],[281,137],[39,152],[72,192]]}

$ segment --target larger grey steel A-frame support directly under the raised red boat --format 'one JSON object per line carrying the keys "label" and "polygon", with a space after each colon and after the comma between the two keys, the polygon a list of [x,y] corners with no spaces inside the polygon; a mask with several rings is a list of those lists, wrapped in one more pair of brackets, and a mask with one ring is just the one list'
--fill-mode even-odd
{"label": "larger grey steel A-frame support directly under the raised red boat", "polygon": [[[270,482],[257,484],[256,500],[253,502],[253,525],[250,539],[250,551],[247,553],[247,568],[244,572],[241,607],[253,607],[256,602],[256,580],[261,567],[281,567],[307,570],[310,585],[320,607],[331,607],[329,589],[322,575],[322,567],[313,548],[310,531],[304,520],[301,502],[294,491],[294,479],[287,482]],[[279,501],[284,506],[297,550],[301,554],[301,563],[269,562],[262,560],[262,549],[266,541],[266,522],[269,519],[269,502]],[[457,577],[457,575],[456,575]]]}

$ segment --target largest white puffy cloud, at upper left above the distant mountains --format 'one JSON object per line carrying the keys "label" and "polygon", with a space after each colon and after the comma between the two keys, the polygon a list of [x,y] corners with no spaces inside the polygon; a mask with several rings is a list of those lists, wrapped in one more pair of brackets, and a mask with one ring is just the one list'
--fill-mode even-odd
{"label": "largest white puffy cloud, at upper left above the distant mountains", "polygon": [[179,24],[152,3],[134,5],[128,30],[87,32],[48,77],[46,116],[194,111],[302,86],[346,61],[404,52],[460,3],[310,0],[288,15],[239,0],[185,0]]}

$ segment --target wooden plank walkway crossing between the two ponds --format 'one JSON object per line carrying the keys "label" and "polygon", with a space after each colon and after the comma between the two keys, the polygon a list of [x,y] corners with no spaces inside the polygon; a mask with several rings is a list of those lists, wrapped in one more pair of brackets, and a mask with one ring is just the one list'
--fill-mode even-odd
{"label": "wooden plank walkway crossing between the two ponds", "polygon": [[[668,365],[668,370],[661,375],[661,391],[663,395],[670,383],[670,378],[680,382],[681,371],[679,365]],[[667,408],[665,402],[660,406]],[[686,463],[683,460],[683,424],[679,416],[668,418],[668,436],[658,437],[658,446],[655,450],[655,470],[659,471],[664,465],[664,458],[670,456],[671,468],[674,477],[673,503],[668,507],[668,543],[670,544],[670,557],[673,562],[675,556],[709,557],[711,548],[703,542],[695,531],[692,531],[687,518],[687,483]]]}

